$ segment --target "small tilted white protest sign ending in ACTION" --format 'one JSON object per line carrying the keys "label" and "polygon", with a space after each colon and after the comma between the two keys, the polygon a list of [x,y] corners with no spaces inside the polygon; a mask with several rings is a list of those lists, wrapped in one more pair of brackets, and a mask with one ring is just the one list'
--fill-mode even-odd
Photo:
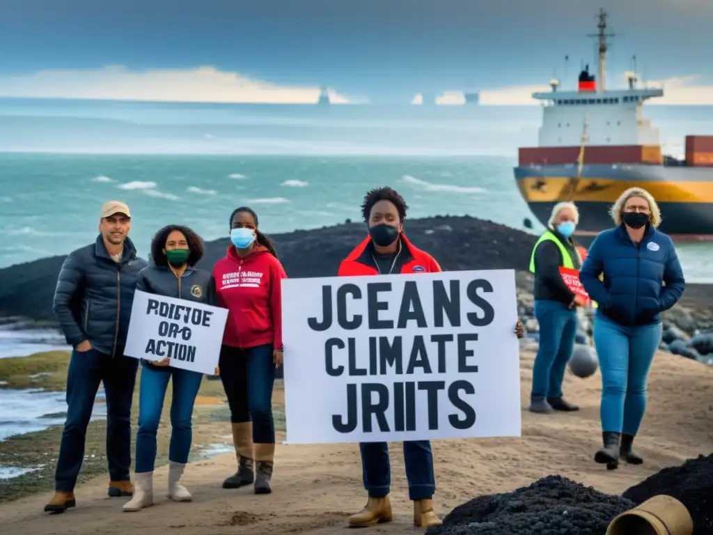
{"label": "small tilted white protest sign ending in ACTION", "polygon": [[136,290],[124,354],[212,375],[226,320],[225,308]]}

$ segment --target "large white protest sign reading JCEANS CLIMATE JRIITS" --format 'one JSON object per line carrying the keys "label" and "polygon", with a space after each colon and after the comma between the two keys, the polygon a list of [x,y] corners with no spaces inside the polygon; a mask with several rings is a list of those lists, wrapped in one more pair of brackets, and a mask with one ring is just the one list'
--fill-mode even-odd
{"label": "large white protest sign reading JCEANS CLIMATE JRIITS", "polygon": [[289,444],[520,436],[513,270],[282,280]]}

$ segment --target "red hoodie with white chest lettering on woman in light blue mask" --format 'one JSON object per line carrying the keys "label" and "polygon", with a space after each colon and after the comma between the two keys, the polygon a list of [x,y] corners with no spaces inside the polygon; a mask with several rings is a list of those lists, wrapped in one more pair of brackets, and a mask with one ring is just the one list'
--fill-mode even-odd
{"label": "red hoodie with white chest lettering on woman in light blue mask", "polygon": [[213,266],[213,277],[218,303],[228,310],[223,344],[282,349],[281,281],[287,274],[279,260],[262,245],[240,258],[231,245]]}

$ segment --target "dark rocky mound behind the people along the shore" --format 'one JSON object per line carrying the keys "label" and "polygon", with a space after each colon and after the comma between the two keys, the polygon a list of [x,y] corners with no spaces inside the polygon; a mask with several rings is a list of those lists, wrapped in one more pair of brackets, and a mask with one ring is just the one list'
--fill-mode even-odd
{"label": "dark rocky mound behind the people along the shore", "polygon": [[[438,260],[444,270],[527,270],[537,236],[471,217],[436,217],[406,222],[414,245]],[[200,232],[200,229],[195,229]],[[289,277],[337,275],[339,263],[366,236],[364,223],[273,234],[279,259]],[[93,241],[87,229],[87,243]],[[468,243],[468,247],[463,244]],[[200,267],[210,269],[225,255],[227,238],[205,243]],[[54,320],[52,299],[65,256],[42,258],[0,270],[0,316]],[[528,286],[528,291],[532,285]]]}

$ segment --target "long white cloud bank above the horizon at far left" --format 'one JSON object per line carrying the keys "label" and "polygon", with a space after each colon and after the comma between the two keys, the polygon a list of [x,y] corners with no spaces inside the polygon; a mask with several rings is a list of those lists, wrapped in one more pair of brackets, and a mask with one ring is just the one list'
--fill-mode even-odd
{"label": "long white cloud bank above the horizon at far left", "polygon": [[[268,81],[202,66],[130,71],[124,66],[88,70],[47,69],[0,76],[0,97],[87,98],[126,101],[312,104],[318,87],[279,86]],[[334,104],[353,103],[329,89]]]}

